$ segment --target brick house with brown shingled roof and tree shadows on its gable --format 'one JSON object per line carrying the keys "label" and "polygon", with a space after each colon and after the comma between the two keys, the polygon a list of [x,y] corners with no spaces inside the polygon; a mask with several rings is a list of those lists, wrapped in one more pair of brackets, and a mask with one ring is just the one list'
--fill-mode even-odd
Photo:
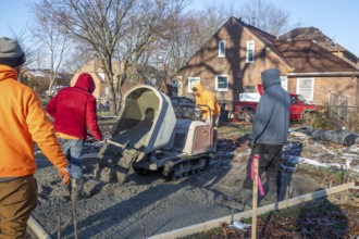
{"label": "brick house with brown shingled roof and tree shadows on its gable", "polygon": [[232,109],[239,92],[257,92],[261,72],[276,67],[282,86],[312,103],[325,104],[331,93],[359,104],[359,70],[312,40],[276,38],[231,17],[176,73],[172,84],[178,96],[191,97],[200,80]]}

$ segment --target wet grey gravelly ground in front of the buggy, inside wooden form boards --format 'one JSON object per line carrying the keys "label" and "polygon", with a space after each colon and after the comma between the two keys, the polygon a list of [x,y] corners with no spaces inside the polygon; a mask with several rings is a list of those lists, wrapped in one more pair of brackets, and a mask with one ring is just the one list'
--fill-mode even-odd
{"label": "wet grey gravelly ground in front of the buggy, inside wooden form boards", "polygon": [[[96,160],[86,162],[94,164]],[[166,181],[159,173],[131,175],[124,185],[104,184],[87,174],[86,194],[76,206],[78,237],[141,238],[231,214],[234,201],[206,186],[213,169],[176,181]],[[55,238],[60,215],[61,238],[73,238],[72,202],[66,187],[53,180],[55,175],[45,163],[37,171],[39,202],[33,216]]]}

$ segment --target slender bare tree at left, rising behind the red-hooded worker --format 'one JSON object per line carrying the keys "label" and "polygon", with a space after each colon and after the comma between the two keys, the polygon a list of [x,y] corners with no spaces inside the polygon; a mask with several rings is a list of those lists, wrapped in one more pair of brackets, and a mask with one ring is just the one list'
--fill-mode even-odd
{"label": "slender bare tree at left, rising behind the red-hooded worker", "polygon": [[33,40],[36,43],[38,66],[46,65],[50,70],[48,97],[53,95],[53,84],[59,77],[60,68],[70,52],[71,40],[69,33],[53,21],[51,12],[41,3],[32,5],[34,26],[32,28]]}

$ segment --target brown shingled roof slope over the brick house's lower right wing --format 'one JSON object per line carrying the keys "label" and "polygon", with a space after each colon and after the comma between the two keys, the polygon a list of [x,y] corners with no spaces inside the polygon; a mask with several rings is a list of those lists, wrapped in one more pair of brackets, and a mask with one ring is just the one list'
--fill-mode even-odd
{"label": "brown shingled roof slope over the brick house's lower right wing", "polygon": [[311,40],[275,40],[280,53],[294,67],[294,73],[345,73],[359,71]]}

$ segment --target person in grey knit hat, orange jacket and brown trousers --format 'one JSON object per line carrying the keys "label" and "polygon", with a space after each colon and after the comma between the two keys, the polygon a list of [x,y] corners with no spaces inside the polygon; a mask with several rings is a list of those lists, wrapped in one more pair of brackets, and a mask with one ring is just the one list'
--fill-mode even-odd
{"label": "person in grey knit hat, orange jacket and brown trousers", "polygon": [[36,93],[17,81],[24,52],[17,41],[0,38],[0,238],[24,238],[37,204],[34,141],[59,169],[70,174],[52,124]]}

